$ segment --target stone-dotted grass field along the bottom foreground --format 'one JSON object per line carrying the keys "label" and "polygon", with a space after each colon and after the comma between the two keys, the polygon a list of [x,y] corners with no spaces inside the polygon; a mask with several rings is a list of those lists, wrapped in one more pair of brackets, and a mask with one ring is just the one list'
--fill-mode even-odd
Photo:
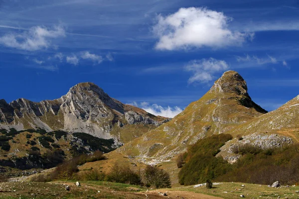
{"label": "stone-dotted grass field along the bottom foreground", "polygon": [[[149,189],[120,183],[82,181],[81,187],[75,181],[51,183],[9,182],[0,183],[0,199],[239,199],[240,195],[250,199],[298,199],[299,186],[290,188],[268,188],[263,185],[242,183],[221,183],[213,189],[205,186],[174,187],[170,189]],[[65,191],[65,186],[70,191]],[[159,193],[167,193],[167,197]]]}

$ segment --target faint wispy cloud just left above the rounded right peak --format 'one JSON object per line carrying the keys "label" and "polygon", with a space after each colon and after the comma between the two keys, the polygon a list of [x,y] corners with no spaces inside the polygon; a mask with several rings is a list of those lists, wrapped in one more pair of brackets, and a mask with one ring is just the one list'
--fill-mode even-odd
{"label": "faint wispy cloud just left above the rounded right peak", "polygon": [[194,82],[205,83],[212,81],[215,73],[225,71],[228,68],[229,66],[225,61],[214,58],[192,60],[185,66],[187,71],[193,72],[192,77],[188,80],[189,84]]}

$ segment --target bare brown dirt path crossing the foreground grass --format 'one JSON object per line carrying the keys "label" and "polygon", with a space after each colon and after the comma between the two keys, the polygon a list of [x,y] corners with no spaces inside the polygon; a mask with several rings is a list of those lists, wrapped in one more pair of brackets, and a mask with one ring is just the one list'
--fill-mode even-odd
{"label": "bare brown dirt path crossing the foreground grass", "polygon": [[[166,193],[167,196],[161,196],[160,194]],[[148,199],[221,199],[219,197],[208,196],[204,194],[198,194],[186,191],[169,191],[169,190],[151,190],[148,192],[136,193],[136,195],[144,195]]]}

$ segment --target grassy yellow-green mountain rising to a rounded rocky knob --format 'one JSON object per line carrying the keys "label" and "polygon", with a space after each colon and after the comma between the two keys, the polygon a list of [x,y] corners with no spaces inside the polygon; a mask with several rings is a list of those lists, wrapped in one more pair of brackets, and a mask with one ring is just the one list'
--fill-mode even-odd
{"label": "grassy yellow-green mountain rising to a rounded rocky knob", "polygon": [[225,72],[200,99],[171,121],[117,149],[146,163],[167,162],[204,137],[227,133],[267,113],[247,92],[246,81],[235,71]]}

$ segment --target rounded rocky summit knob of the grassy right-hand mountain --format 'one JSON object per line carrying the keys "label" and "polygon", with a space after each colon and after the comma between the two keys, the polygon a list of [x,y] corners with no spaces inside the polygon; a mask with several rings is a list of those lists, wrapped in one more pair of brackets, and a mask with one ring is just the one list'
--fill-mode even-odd
{"label": "rounded rocky summit knob of the grassy right-hand mountain", "polygon": [[236,71],[226,71],[215,82],[212,91],[247,95],[247,83]]}

